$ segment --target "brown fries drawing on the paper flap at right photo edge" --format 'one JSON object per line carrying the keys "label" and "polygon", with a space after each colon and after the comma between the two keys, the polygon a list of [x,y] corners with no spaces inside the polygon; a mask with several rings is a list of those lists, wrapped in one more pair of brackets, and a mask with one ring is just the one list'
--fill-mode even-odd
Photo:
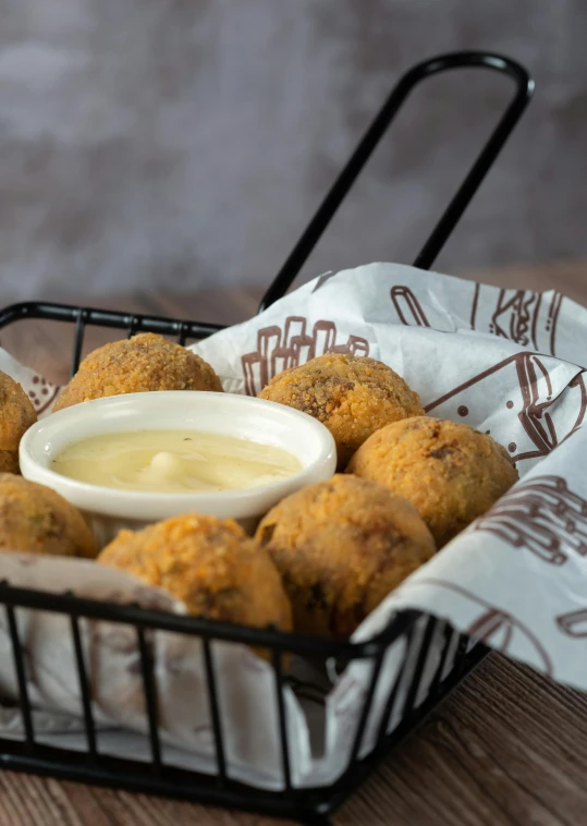
{"label": "brown fries drawing on the paper flap at right photo edge", "polygon": [[561,566],[570,554],[587,556],[587,500],[562,476],[535,476],[505,494],[474,530]]}

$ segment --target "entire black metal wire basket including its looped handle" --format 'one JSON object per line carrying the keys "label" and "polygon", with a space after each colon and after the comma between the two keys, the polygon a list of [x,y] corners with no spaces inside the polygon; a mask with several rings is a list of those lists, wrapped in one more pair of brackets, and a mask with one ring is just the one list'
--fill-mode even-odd
{"label": "entire black metal wire basket including its looped handle", "polygon": [[[403,75],[386,105],[367,130],[348,163],[318,208],[293,252],[268,288],[260,309],[264,309],[281,297],[293,283],[353,182],[413,88],[432,74],[469,66],[485,68],[509,75],[514,80],[516,90],[486,146],[477,157],[416,258],[416,266],[420,268],[429,268],[431,266],[531,96],[534,88],[531,78],[522,66],[506,58],[478,52],[448,54],[420,63]],[[159,332],[175,337],[182,344],[187,339],[201,339],[222,329],[220,325],[200,321],[175,320],[45,302],[21,303],[4,308],[0,312],[0,327],[5,327],[11,323],[27,318],[74,324],[72,373],[77,369],[80,364],[84,344],[84,332],[88,325],[123,329],[129,336],[138,331]],[[374,639],[362,643],[350,643],[330,642],[299,634],[284,634],[272,630],[235,627],[194,617],[180,617],[162,611],[146,610],[136,606],[119,606],[91,599],[82,599],[71,594],[50,595],[37,591],[13,587],[5,582],[0,583],[0,605],[4,606],[7,612],[19,688],[19,703],[24,724],[24,738],[22,741],[0,738],[0,760],[3,767],[267,812],[284,817],[295,817],[305,823],[325,823],[328,813],[352,793],[356,786],[371,772],[372,766],[388,754],[391,748],[409,733],[425,715],[450,690],[457,685],[461,679],[487,654],[487,649],[482,645],[470,646],[465,636],[457,635],[456,632],[442,623],[441,620],[431,617],[423,620],[424,615],[419,611],[403,611],[394,616],[388,627]],[[23,649],[22,641],[19,637],[16,622],[16,614],[23,609],[57,612],[70,618],[86,732],[87,749],[84,753],[56,749],[36,742],[26,680],[26,652]],[[148,764],[115,758],[102,755],[99,752],[99,738],[96,734],[89,681],[80,632],[81,618],[123,623],[133,627],[136,631],[138,651],[140,653],[145,706],[149,722],[150,762]],[[401,719],[391,733],[388,733],[390,716],[398,700],[400,680],[402,679],[408,653],[412,651],[414,629],[416,623],[420,621],[425,621],[426,624],[418,643],[419,648],[416,664],[412,672],[405,702],[401,709]],[[430,656],[432,641],[436,639],[435,634],[439,628],[439,623],[442,625],[443,634],[440,660],[429,685],[427,699],[424,703],[417,704],[416,701],[423,680],[424,668],[427,658]],[[161,758],[157,684],[147,640],[147,632],[152,630],[188,634],[203,641],[209,709],[217,757],[217,774],[213,777],[166,766]],[[402,636],[405,637],[407,643],[406,655],[396,679],[389,687],[383,715],[379,722],[376,745],[368,755],[360,756],[362,744],[375,692],[378,688],[383,657],[389,647]],[[455,642],[455,636],[458,636],[456,654],[453,658],[452,667],[447,669],[447,656],[451,645]],[[228,777],[221,709],[218,702],[212,652],[213,641],[219,640],[248,644],[257,648],[262,647],[270,652],[270,661],[276,676],[276,704],[282,755],[283,789],[281,791],[262,791],[246,784],[236,782]],[[298,654],[322,661],[337,659],[350,663],[355,659],[367,659],[372,663],[371,677],[346,769],[330,786],[298,789],[292,785],[283,695],[283,661],[288,654]],[[445,671],[448,672],[445,673]]]}

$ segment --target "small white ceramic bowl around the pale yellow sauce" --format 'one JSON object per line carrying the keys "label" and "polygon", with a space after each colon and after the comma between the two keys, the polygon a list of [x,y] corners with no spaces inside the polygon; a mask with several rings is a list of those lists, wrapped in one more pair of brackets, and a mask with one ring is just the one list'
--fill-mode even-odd
{"label": "small white ceramic bowl around the pale yellow sauce", "polygon": [[[200,430],[236,436],[290,451],[302,470],[270,485],[206,494],[126,491],[89,485],[51,470],[69,445],[106,433]],[[317,420],[282,404],[231,393],[158,391],[129,393],[75,404],[33,425],[21,440],[23,476],[53,488],[87,518],[100,545],[122,527],[137,530],[179,513],[232,517],[247,530],[280,499],[330,478],[334,440]]]}

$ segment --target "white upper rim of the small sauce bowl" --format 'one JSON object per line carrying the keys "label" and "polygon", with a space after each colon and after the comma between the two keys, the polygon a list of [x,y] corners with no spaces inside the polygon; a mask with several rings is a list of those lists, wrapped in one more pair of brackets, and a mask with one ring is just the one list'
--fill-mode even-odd
{"label": "white upper rim of the small sauce bowl", "polygon": [[[61,432],[62,428],[68,426],[68,423],[75,416],[75,414],[80,412],[76,409],[81,405],[83,405],[84,414],[88,415],[88,422],[90,422],[94,418],[94,415],[96,416],[96,421],[99,421],[100,412],[105,408],[111,405],[122,405],[124,403],[129,404],[133,402],[149,405],[156,401],[161,402],[164,399],[168,399],[170,402],[174,399],[181,399],[182,402],[186,402],[187,399],[189,399],[196,404],[198,400],[205,400],[204,403],[209,404],[213,399],[215,403],[223,404],[229,408],[231,405],[235,408],[262,406],[266,411],[269,410],[271,413],[283,420],[296,422],[297,425],[302,425],[308,430],[313,430],[320,442],[317,457],[314,461],[303,466],[297,473],[277,482],[271,482],[267,485],[236,490],[178,494],[125,490],[103,487],[101,485],[93,485],[87,482],[78,482],[77,479],[64,476],[57,471],[47,467],[44,462],[40,461],[39,452],[42,449],[41,444],[35,446],[35,449],[33,449],[35,440],[39,438],[39,432],[42,432],[48,427],[56,427],[57,432]],[[140,415],[140,413],[137,414],[136,427],[133,427],[133,432],[135,429],[142,429],[140,421],[138,418]],[[149,415],[148,406],[146,408],[144,415]],[[163,430],[170,429],[170,427],[169,425],[157,426],[157,424],[154,423],[148,429]],[[118,433],[125,432],[126,428],[123,426],[118,430]],[[127,432],[131,430],[129,429]],[[98,435],[98,433],[99,430],[96,435]],[[230,435],[229,429],[227,429],[227,435]],[[237,428],[235,428],[234,435],[239,435]],[[51,432],[49,432],[47,440],[50,436]],[[88,428],[88,433],[85,437],[81,436],[76,441],[81,441],[83,438],[91,438],[91,428]],[[257,439],[252,440],[257,441]],[[262,435],[261,438],[258,439],[258,442],[268,444],[267,441],[264,441]],[[296,453],[295,442],[289,445],[284,442],[282,448],[289,450],[289,452],[302,461],[298,453]],[[216,506],[217,508],[219,506],[224,506],[227,511],[230,510],[236,514],[234,517],[235,519],[242,519],[257,514],[259,512],[257,503],[259,500],[267,498],[269,494],[271,494],[272,498],[283,498],[289,493],[311,484],[317,471],[322,466],[332,465],[330,473],[330,475],[332,475],[335,471],[337,450],[330,430],[328,430],[328,428],[317,418],[314,418],[307,413],[295,410],[294,408],[289,408],[284,404],[279,404],[267,399],[257,399],[256,397],[240,393],[218,393],[203,390],[157,390],[140,393],[120,393],[118,396],[94,399],[51,413],[49,416],[40,418],[26,430],[19,447],[19,459],[21,463],[21,472],[25,478],[51,487],[53,490],[57,490],[57,493],[64,496],[64,498],[72,505],[94,513],[127,519],[145,519],[145,515],[149,514],[152,521],[156,521],[158,519],[167,518],[166,514],[171,515],[172,513],[178,512],[206,512],[206,509],[212,506]],[[94,501],[90,503],[91,499],[94,499]]]}

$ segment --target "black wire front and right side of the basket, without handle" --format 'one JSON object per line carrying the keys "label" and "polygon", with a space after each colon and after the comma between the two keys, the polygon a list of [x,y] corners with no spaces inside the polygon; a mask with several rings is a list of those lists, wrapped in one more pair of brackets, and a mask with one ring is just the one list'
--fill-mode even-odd
{"label": "black wire front and right side of the basket, without handle", "polygon": [[[19,706],[24,730],[22,740],[0,738],[3,767],[294,816],[306,822],[311,821],[316,815],[325,816],[339,805],[368,775],[371,767],[393,745],[409,733],[426,714],[458,683],[463,675],[474,668],[487,653],[485,646],[477,644],[467,654],[467,637],[452,631],[441,620],[427,617],[418,611],[404,611],[395,616],[380,634],[367,642],[333,643],[277,631],[260,631],[227,623],[209,622],[197,618],[147,610],[136,606],[110,605],[70,594],[45,594],[38,591],[13,587],[5,582],[0,584],[0,602],[3,603],[10,629],[14,667],[17,676]],[[57,612],[69,617],[83,706],[86,738],[86,748],[83,752],[68,751],[38,741],[27,688],[27,653],[20,637],[15,619],[15,612],[23,609]],[[96,732],[87,666],[80,634],[81,621],[87,620],[120,623],[135,629],[140,653],[143,699],[148,720],[148,748],[150,750],[148,763],[100,753],[99,734],[97,736]],[[414,636],[418,623],[420,627],[419,640],[417,646],[414,646]],[[162,743],[158,725],[157,685],[151,647],[148,643],[148,635],[155,630],[193,635],[203,642],[216,754],[216,773],[213,776],[166,765],[161,756]],[[435,637],[440,639],[441,644],[433,652],[432,641]],[[394,643],[402,640],[405,642],[406,654],[393,682],[386,687],[382,713],[379,720],[376,721],[375,743],[364,755],[367,724],[375,693],[379,689],[383,657]],[[274,673],[274,703],[278,709],[280,729],[282,788],[279,791],[257,789],[233,780],[229,776],[213,665],[213,643],[217,641],[254,643],[256,646],[262,645],[270,652],[270,661]],[[294,654],[311,658],[315,661],[325,661],[328,658],[350,664],[363,659],[371,668],[356,731],[346,758],[346,766],[337,781],[328,786],[296,788],[292,781],[291,753],[284,709],[286,681],[282,663],[285,656]],[[424,684],[425,667],[432,654],[435,654],[433,672]],[[448,661],[449,659],[450,661]],[[408,679],[406,680],[408,664],[409,673],[407,673]],[[425,689],[425,697],[420,699],[419,694],[423,688]],[[395,722],[390,731],[392,713]]]}

